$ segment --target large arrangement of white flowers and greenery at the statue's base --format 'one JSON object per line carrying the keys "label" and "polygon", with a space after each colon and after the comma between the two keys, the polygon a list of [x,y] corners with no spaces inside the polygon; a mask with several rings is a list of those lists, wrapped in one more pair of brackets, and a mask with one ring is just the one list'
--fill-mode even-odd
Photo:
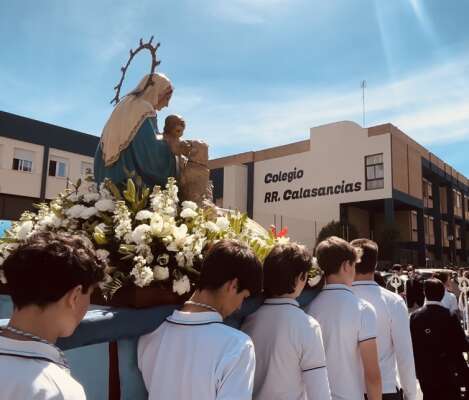
{"label": "large arrangement of white flowers and greenery at the statue's base", "polygon": [[37,205],[36,213],[24,212],[0,239],[3,283],[3,260],[30,235],[44,230],[66,231],[93,242],[106,266],[101,290],[107,297],[132,284],[166,287],[179,295],[190,292],[205,249],[220,239],[248,244],[260,260],[275,244],[289,242],[285,230],[269,232],[245,214],[202,208],[192,201],[180,204],[174,179],[153,192],[138,178],[129,179],[122,191],[110,181],[86,186],[84,190],[78,181],[49,204]]}

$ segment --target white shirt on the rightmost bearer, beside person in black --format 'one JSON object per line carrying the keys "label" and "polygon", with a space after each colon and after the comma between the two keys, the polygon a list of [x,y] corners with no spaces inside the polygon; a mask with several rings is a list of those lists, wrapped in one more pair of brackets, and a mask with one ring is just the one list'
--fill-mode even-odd
{"label": "white shirt on the rightmost bearer, beside person in black", "polygon": [[368,301],[376,311],[383,393],[396,393],[398,370],[406,400],[415,400],[417,381],[414,352],[409,314],[404,300],[398,294],[382,288],[375,281],[355,281],[352,289],[358,297]]}

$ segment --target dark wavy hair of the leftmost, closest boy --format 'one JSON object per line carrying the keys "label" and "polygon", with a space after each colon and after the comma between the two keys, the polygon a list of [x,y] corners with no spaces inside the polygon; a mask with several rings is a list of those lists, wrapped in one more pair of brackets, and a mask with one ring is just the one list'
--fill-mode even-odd
{"label": "dark wavy hair of the leftmost, closest boy", "polygon": [[32,235],[6,258],[3,270],[18,309],[33,304],[47,306],[78,285],[86,293],[104,278],[91,243],[66,233]]}

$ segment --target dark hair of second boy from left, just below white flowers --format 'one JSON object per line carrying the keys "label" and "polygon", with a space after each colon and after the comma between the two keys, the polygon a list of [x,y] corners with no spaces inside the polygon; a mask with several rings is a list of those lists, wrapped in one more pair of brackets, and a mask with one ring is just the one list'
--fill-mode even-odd
{"label": "dark hair of second boy from left, just below white flowers", "polygon": [[216,290],[238,278],[238,292],[249,290],[251,296],[262,291],[262,265],[254,252],[234,240],[220,240],[207,252],[202,263],[198,287]]}

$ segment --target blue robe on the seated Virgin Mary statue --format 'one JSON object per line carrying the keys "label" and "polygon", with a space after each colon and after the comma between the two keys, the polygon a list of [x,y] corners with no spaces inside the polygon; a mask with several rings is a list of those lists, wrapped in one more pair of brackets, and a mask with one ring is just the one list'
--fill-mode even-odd
{"label": "blue robe on the seated Virgin Mary statue", "polygon": [[156,118],[147,118],[140,126],[129,146],[124,149],[119,160],[106,167],[101,145],[94,156],[94,178],[100,184],[109,178],[116,185],[125,184],[126,170],[135,171],[150,189],[155,185],[164,187],[170,176],[176,177],[176,158],[168,143],[156,137]]}

